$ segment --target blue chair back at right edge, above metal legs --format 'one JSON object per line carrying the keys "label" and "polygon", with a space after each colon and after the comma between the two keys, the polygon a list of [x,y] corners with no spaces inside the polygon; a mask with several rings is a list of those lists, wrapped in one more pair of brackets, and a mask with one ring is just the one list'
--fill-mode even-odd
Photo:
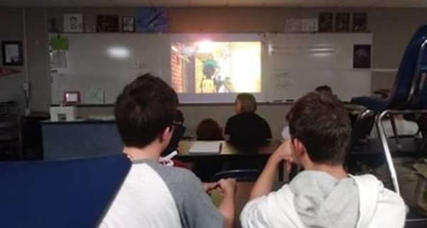
{"label": "blue chair back at right edge, above metal legs", "polygon": [[421,45],[427,38],[427,24],[418,28],[401,60],[393,88],[386,99],[385,109],[406,109],[408,97],[416,86],[416,70]]}

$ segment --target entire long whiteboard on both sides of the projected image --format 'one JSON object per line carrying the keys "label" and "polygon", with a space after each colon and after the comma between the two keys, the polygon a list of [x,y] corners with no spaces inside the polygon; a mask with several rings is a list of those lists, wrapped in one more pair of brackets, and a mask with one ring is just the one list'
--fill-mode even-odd
{"label": "entire long whiteboard on both sides of the projected image", "polygon": [[[49,38],[56,36],[58,34],[49,34]],[[80,92],[82,104],[113,104],[123,87],[144,72],[152,72],[170,83],[170,44],[171,37],[176,37],[174,34],[67,33],[61,36],[68,38],[69,48],[60,56],[65,62],[63,65],[50,60],[52,104],[60,104],[65,91]],[[371,70],[352,68],[353,45],[371,44],[370,33],[241,36],[259,36],[263,43],[263,92],[255,94],[258,102],[295,100],[320,85],[329,85],[344,101],[371,92]],[[227,37],[236,40],[236,34],[221,34],[221,40]],[[94,102],[93,94],[99,91],[103,94],[102,102]],[[181,102],[186,102],[183,94],[179,96]],[[234,96],[228,98],[226,102],[233,102]]]}

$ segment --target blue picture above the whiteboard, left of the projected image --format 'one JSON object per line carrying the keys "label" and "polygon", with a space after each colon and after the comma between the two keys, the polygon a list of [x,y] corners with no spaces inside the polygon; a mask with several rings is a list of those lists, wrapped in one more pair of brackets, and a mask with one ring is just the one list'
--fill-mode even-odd
{"label": "blue picture above the whiteboard, left of the projected image", "polygon": [[169,28],[166,8],[139,8],[137,18],[138,32],[164,32]]}

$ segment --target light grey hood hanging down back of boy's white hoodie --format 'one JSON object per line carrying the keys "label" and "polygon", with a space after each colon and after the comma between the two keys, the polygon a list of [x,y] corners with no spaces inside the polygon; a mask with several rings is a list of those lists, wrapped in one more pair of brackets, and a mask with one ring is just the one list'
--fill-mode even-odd
{"label": "light grey hood hanging down back of boy's white hoodie", "polygon": [[306,227],[357,227],[359,188],[353,178],[338,180],[307,170],[290,183],[297,215]]}

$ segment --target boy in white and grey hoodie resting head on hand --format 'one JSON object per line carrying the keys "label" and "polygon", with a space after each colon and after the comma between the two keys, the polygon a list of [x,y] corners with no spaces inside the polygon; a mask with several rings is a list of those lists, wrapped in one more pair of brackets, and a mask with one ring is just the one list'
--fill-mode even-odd
{"label": "boy in white and grey hoodie resting head on hand", "polygon": [[[243,227],[404,227],[406,208],[373,175],[343,168],[351,140],[339,100],[310,92],[290,110],[291,139],[270,156],[243,208]],[[302,165],[289,184],[271,192],[281,161]]]}

